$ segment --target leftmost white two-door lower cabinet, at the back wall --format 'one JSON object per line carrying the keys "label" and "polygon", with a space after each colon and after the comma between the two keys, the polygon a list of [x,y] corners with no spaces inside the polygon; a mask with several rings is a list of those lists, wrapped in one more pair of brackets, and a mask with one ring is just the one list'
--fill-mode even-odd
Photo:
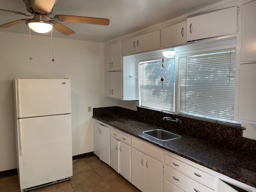
{"label": "leftmost white two-door lower cabinet, at the back wall", "polygon": [[110,128],[94,122],[94,154],[110,164]]}

